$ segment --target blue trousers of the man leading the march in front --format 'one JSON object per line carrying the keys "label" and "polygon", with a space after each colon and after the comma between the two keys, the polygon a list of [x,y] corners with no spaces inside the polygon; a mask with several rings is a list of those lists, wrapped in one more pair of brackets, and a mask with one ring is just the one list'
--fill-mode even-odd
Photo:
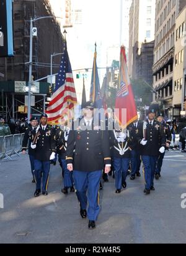
{"label": "blue trousers of the man leading the march in front", "polygon": [[[99,206],[99,184],[102,177],[101,171],[73,171],[76,195],[82,210],[87,209],[89,220],[97,220],[100,212]],[[87,195],[86,195],[87,192]]]}

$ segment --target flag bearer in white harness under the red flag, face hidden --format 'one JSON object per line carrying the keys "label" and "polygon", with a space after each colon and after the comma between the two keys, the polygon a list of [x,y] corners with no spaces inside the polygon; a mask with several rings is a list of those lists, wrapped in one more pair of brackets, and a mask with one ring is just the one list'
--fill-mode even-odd
{"label": "flag bearer in white harness under the red flag, face hidden", "polygon": [[126,133],[114,129],[110,132],[112,146],[113,168],[115,169],[116,193],[120,194],[122,187],[126,188],[126,176],[130,167],[131,150],[133,143]]}

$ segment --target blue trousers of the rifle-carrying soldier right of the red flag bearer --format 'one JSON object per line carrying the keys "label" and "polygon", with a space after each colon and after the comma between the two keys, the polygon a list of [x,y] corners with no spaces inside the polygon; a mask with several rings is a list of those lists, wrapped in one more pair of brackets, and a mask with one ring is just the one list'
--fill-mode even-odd
{"label": "blue trousers of the rifle-carrying soldier right of the red flag bearer", "polygon": [[157,163],[157,156],[141,156],[144,165],[145,188],[154,186],[154,174]]}

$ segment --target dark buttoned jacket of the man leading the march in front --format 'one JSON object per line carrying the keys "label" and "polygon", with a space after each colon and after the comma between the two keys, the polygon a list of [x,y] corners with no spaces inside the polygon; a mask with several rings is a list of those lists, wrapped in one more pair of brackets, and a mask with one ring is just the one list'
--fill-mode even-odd
{"label": "dark buttoned jacket of the man leading the march in front", "polygon": [[104,164],[111,164],[108,131],[94,130],[94,127],[92,130],[71,130],[66,162],[73,164],[74,170],[89,172],[102,170]]}

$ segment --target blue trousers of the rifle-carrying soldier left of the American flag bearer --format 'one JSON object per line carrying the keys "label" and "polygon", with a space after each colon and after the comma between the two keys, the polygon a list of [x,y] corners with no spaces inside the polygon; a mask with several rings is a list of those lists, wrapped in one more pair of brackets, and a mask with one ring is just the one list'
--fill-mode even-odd
{"label": "blue trousers of the rifle-carrying soldier left of the American flag bearer", "polygon": [[36,179],[36,189],[41,189],[41,174],[43,173],[43,187],[42,191],[46,192],[48,190],[48,179],[50,173],[50,161],[40,161],[35,159],[35,179]]}

